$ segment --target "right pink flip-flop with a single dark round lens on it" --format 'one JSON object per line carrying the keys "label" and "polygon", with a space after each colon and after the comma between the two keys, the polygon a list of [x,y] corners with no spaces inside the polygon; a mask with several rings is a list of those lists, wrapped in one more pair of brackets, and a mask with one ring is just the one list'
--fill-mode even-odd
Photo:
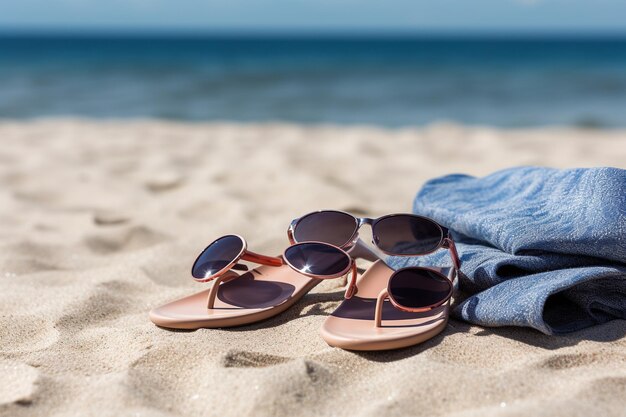
{"label": "right pink flip-flop with a single dark round lens on it", "polygon": [[[442,272],[393,271],[377,261],[357,280],[357,295],[324,321],[322,338],[347,350],[398,349],[431,339],[448,322],[452,279]],[[449,276],[453,274],[452,269]]]}

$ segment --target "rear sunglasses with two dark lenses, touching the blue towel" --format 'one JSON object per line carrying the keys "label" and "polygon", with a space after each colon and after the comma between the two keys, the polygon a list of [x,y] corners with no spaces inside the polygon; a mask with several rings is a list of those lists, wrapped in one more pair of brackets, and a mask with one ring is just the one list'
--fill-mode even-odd
{"label": "rear sunglasses with two dark lenses, touching the blue towel", "polygon": [[359,239],[361,226],[372,228],[372,243],[393,256],[426,255],[439,248],[450,250],[455,271],[460,260],[447,228],[424,216],[389,214],[377,219],[358,218],[337,210],[321,210],[291,222],[287,234],[291,243],[319,241],[350,250]]}

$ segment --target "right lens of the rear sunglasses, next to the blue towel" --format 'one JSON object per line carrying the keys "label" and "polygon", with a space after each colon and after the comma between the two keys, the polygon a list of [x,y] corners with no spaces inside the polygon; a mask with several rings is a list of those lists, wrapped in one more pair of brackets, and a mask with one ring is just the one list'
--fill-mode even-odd
{"label": "right lens of the rear sunglasses, next to the blue towel", "polygon": [[437,223],[410,215],[385,217],[374,224],[373,233],[379,248],[396,255],[432,252],[443,239]]}

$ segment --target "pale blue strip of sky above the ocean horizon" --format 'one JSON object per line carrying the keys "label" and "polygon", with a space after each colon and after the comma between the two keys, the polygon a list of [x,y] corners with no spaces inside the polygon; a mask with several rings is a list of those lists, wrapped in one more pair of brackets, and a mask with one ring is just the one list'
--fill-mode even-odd
{"label": "pale blue strip of sky above the ocean horizon", "polygon": [[626,0],[0,0],[0,30],[619,32]]}

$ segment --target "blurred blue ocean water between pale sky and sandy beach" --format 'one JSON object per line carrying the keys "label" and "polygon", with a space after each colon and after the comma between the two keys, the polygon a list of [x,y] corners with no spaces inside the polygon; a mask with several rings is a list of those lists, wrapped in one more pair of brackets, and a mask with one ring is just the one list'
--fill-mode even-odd
{"label": "blurred blue ocean water between pale sky and sandy beach", "polygon": [[626,37],[0,34],[0,119],[626,126]]}

